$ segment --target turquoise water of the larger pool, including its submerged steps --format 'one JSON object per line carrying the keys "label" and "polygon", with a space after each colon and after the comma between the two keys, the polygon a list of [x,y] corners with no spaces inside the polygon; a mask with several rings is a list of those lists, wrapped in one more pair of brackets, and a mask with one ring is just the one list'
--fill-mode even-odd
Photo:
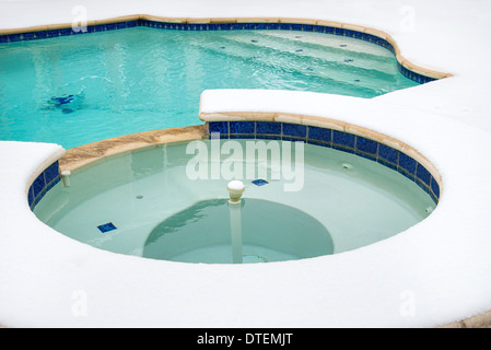
{"label": "turquoise water of the larger pool, including its submerged steps", "polygon": [[133,27],[0,45],[0,140],[66,149],[200,124],[207,89],[374,97],[417,85],[375,44],[285,31]]}

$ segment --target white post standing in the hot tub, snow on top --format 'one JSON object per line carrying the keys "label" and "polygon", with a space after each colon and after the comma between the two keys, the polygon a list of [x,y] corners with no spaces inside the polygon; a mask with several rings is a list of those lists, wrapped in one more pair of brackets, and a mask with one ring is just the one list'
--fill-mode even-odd
{"label": "white post standing in the hot tub, snow on top", "polygon": [[245,186],[239,180],[230,182],[226,186],[229,190],[229,210],[230,210],[230,228],[232,241],[232,261],[234,264],[243,262],[242,254],[242,218],[241,218],[241,197]]}

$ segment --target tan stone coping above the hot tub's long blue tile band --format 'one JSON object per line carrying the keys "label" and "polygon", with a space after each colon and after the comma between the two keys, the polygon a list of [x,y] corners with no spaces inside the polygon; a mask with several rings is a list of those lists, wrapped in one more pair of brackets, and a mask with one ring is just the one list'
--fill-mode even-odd
{"label": "tan stone coping above the hot tub's long blue tile band", "polygon": [[[418,161],[422,166],[424,166],[433,178],[436,179],[440,186],[441,194],[443,192],[442,176],[440,175],[436,167],[426,158],[424,158],[414,148],[395,139],[389,136],[383,135],[381,132],[370,130],[356,125],[352,125],[346,121],[329,119],[324,117],[315,117],[308,115],[296,115],[296,114],[285,114],[285,113],[249,113],[249,112],[233,112],[233,113],[200,113],[200,120],[204,122],[210,121],[273,121],[273,122],[288,122],[288,124],[300,124],[312,127],[319,127],[325,129],[332,129],[337,131],[342,131],[347,133],[352,133],[360,136],[379,143],[384,143],[393,149],[396,149],[413,160]],[[207,128],[208,129],[208,128]]]}

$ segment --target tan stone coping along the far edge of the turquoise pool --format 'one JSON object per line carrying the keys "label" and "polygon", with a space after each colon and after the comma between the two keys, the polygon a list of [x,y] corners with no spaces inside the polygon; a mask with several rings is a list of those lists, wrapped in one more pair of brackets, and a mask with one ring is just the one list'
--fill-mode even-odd
{"label": "tan stone coping along the far edge of the turquoise pool", "polygon": [[[138,21],[138,20],[147,20],[154,22],[167,22],[167,23],[190,23],[190,24],[220,24],[220,23],[292,23],[292,24],[312,24],[312,25],[323,25],[330,26],[336,28],[346,28],[360,33],[366,33],[379,38],[387,40],[393,47],[394,52],[396,55],[396,59],[399,63],[406,69],[419,73],[421,75],[426,75],[433,79],[443,79],[453,77],[451,73],[440,72],[431,69],[426,69],[414,63],[411,63],[406,58],[400,55],[400,49],[396,43],[396,40],[387,33],[366,27],[363,25],[341,23],[336,21],[324,21],[324,20],[313,20],[313,19],[291,19],[291,18],[164,18],[156,16],[151,14],[132,14],[118,16],[113,19],[104,19],[104,20],[95,20],[89,21],[86,25],[98,25],[98,24],[108,24],[108,23],[119,23],[127,21]],[[30,33],[30,32],[42,32],[42,31],[50,31],[50,30],[61,30],[61,28],[70,28],[72,27],[72,23],[60,23],[60,24],[48,24],[48,25],[37,25],[30,27],[21,27],[21,28],[9,28],[9,30],[0,30],[0,35],[9,35],[9,34],[21,34],[21,33]]]}

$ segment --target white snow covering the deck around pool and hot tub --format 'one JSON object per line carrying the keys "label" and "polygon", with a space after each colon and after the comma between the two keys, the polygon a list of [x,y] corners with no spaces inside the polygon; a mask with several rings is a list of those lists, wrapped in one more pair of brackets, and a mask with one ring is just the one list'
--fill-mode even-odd
{"label": "white snow covering the deck around pool and hot tub", "polygon": [[[0,28],[70,23],[75,5],[2,2]],[[443,179],[441,201],[408,231],[339,255],[242,266],[157,261],[102,252],[39,222],[28,209],[26,187],[63,150],[0,142],[0,324],[434,327],[491,310],[490,2],[141,0],[101,5],[87,0],[84,5],[90,20],[135,13],[282,16],[389,33],[409,61],[454,77],[373,100],[208,91],[201,113],[309,115],[390,136],[436,166]]]}

